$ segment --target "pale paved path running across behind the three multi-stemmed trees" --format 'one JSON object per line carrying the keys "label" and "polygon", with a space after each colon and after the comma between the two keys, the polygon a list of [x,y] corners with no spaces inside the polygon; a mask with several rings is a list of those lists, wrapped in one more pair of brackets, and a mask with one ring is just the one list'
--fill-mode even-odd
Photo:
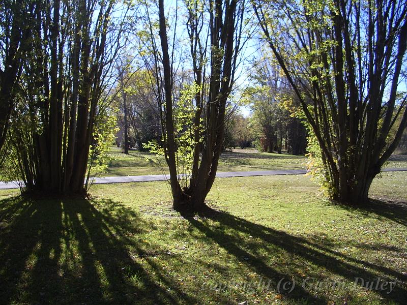
{"label": "pale paved path running across behind the three multi-stemmed trees", "polygon": [[[385,168],[382,171],[407,171],[407,168]],[[273,175],[301,175],[305,174],[305,169],[285,169],[285,170],[257,170],[243,172],[218,172],[217,178],[226,177],[252,177],[252,176],[273,176]],[[125,182],[146,182],[163,181],[169,179],[169,175],[144,175],[144,176],[112,176],[99,177],[94,179],[94,184],[125,183]],[[18,189],[18,181],[0,182],[0,190]]]}

